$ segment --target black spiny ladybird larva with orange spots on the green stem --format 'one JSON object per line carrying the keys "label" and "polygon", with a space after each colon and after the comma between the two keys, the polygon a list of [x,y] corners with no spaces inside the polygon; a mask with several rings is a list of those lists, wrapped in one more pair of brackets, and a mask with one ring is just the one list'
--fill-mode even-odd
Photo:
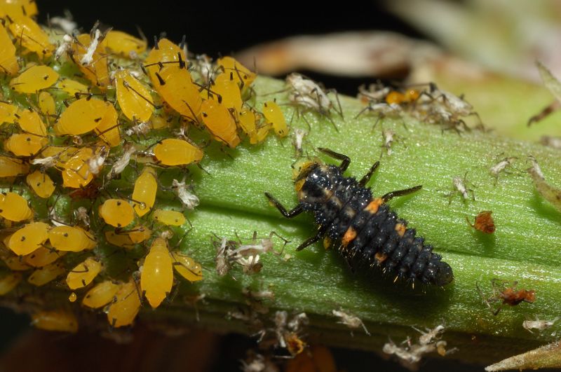
{"label": "black spiny ladybird larva with orange spots on the green stem", "polygon": [[341,165],[327,165],[318,159],[306,160],[297,167],[295,189],[299,204],[287,211],[269,193],[266,197],[283,216],[292,218],[302,212],[313,212],[318,232],[297,247],[297,251],[326,237],[352,266],[378,266],[384,273],[403,277],[413,282],[444,286],[454,279],[452,268],[440,261],[431,245],[424,244],[423,237],[415,237],[416,231],[407,228],[407,222],[398,219],[386,202],[396,196],[407,195],[421,186],[393,191],[373,198],[365,185],[377,169],[374,163],[370,171],[357,181],[343,177],[351,159],[328,149],[319,151],[342,160]]}

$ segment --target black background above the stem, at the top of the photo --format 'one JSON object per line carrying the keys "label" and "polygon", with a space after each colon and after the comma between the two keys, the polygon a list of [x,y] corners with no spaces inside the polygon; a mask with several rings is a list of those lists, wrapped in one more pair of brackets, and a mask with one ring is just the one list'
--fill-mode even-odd
{"label": "black background above the stem, at the top of the photo", "polygon": [[[89,32],[96,20],[138,36],[137,27],[153,44],[154,36],[165,32],[168,39],[179,42],[187,36],[192,53],[210,57],[229,55],[257,43],[301,34],[385,30],[426,39],[399,18],[384,10],[382,1],[342,1],[340,5],[324,1],[262,1],[250,3],[229,0],[214,1],[42,1],[39,0],[40,20],[62,15],[68,9],[77,24]],[[301,71],[328,88],[356,95],[365,78],[337,78]]]}

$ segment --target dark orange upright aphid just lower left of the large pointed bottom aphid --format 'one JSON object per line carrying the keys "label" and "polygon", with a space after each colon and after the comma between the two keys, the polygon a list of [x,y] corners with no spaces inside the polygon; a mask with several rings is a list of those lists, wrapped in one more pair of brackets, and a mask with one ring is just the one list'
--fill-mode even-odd
{"label": "dark orange upright aphid just lower left of the large pointed bottom aphid", "polygon": [[107,320],[111,326],[118,328],[133,324],[140,310],[140,297],[134,280],[122,284],[115,294],[115,302],[109,305]]}

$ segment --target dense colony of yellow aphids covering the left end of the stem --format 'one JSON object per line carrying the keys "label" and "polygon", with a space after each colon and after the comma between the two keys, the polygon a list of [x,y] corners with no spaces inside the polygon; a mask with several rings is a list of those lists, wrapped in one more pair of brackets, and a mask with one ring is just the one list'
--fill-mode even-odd
{"label": "dense colony of yellow aphids covering the left end of the stem", "polygon": [[[34,1],[0,1],[0,294],[67,288],[68,301],[34,314],[43,329],[76,331],[80,305],[128,326],[144,298],[151,308],[168,298],[175,277],[203,278],[172,233],[198,198],[185,176],[162,184],[159,173],[188,174],[212,140],[258,144],[288,126],[275,102],[250,104],[256,74],[232,57],[190,59],[168,39],[147,51],[97,25],[43,29],[36,14]],[[241,261],[241,249],[229,254]],[[113,254],[128,264],[108,267]]]}

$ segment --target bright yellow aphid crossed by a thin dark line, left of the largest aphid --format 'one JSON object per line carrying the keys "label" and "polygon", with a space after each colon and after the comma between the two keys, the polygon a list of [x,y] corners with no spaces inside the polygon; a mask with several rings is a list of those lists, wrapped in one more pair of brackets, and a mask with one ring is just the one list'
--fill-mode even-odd
{"label": "bright yellow aphid crossed by a thin dark line, left of the largest aphid", "polygon": [[154,99],[150,91],[137,81],[127,70],[115,74],[117,102],[130,120],[148,121],[154,112]]}

